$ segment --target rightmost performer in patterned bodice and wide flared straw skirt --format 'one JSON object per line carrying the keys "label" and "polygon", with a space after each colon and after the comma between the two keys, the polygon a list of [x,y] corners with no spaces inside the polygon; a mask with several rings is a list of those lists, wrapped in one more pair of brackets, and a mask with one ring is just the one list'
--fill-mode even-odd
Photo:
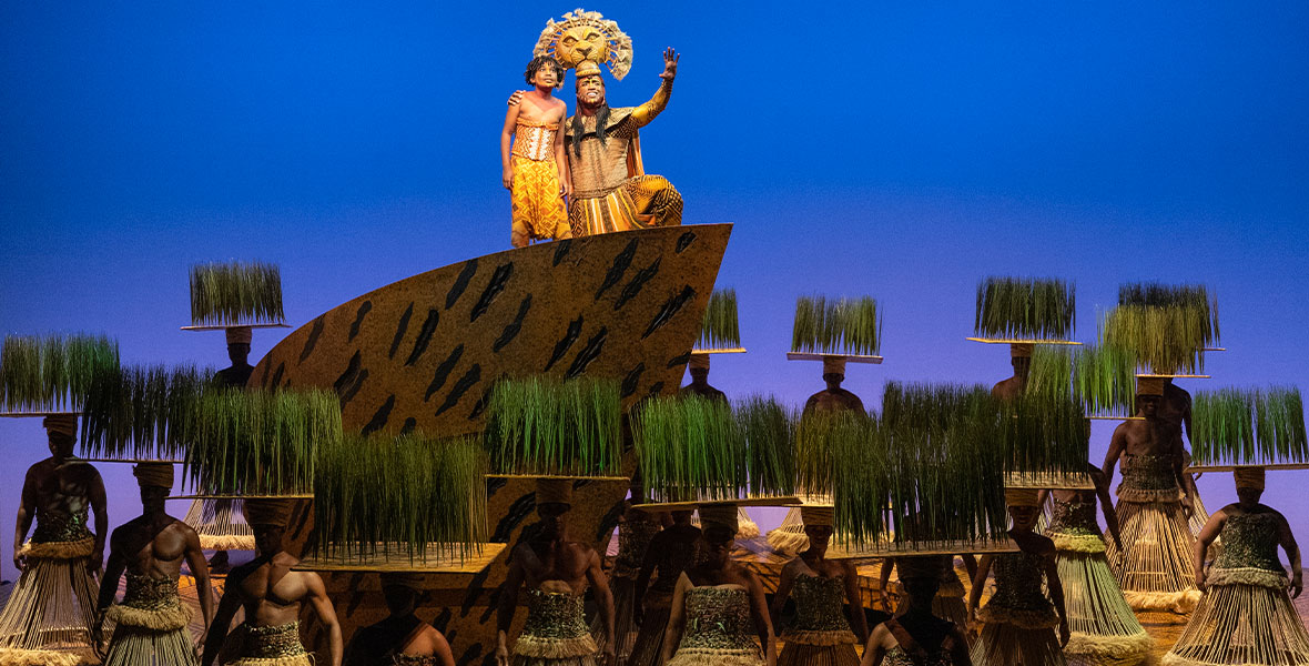
{"label": "rightmost performer in patterned bodice and wide flared straw skirt", "polygon": [[[1238,501],[1210,517],[1200,531],[1192,566],[1204,597],[1164,666],[1309,665],[1309,635],[1291,604],[1304,590],[1300,547],[1285,517],[1259,503],[1263,482],[1264,468],[1238,467]],[[1206,572],[1207,551],[1219,535],[1223,553]],[[1289,581],[1279,545],[1291,560]]]}

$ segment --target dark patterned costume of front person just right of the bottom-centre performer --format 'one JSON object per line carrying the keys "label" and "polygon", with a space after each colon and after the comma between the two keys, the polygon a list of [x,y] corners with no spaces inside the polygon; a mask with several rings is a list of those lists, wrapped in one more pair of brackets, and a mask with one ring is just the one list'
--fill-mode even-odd
{"label": "dark patterned costume of front person just right of the bottom-centre performer", "polygon": [[779,666],[859,666],[859,638],[846,619],[846,578],[796,576],[796,620],[781,635]]}

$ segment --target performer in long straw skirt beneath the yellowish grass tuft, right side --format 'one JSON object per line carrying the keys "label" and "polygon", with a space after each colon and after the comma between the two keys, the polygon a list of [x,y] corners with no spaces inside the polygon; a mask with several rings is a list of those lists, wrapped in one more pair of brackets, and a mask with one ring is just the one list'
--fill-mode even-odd
{"label": "performer in long straw skirt beneath the yellowish grass tuft, right side", "polygon": [[1172,427],[1158,418],[1161,395],[1161,382],[1138,379],[1138,416],[1144,421],[1122,422],[1109,442],[1105,477],[1113,479],[1114,465],[1123,472],[1115,507],[1123,547],[1110,543],[1107,553],[1128,606],[1186,614],[1200,598],[1191,576],[1195,538],[1183,507],[1183,459]]}

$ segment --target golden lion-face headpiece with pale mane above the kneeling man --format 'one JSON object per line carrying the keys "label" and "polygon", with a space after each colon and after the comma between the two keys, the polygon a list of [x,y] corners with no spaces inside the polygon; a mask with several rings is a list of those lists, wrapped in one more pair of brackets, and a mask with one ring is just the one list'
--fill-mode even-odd
{"label": "golden lion-face headpiece with pale mane above the kneeling man", "polygon": [[577,8],[564,14],[563,21],[546,22],[531,55],[552,55],[565,69],[586,62],[606,64],[614,79],[622,81],[632,68],[632,38],[600,12]]}

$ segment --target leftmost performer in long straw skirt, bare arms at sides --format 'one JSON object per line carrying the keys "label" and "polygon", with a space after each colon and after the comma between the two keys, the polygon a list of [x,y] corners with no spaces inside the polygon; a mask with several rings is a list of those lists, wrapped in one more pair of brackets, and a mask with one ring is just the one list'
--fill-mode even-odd
{"label": "leftmost performer in long straw skirt, bare arms at sides", "polygon": [[[103,562],[105,484],[73,458],[76,414],[51,414],[43,425],[50,458],[31,465],[14,520],[13,564],[22,574],[0,611],[0,663],[81,662],[96,621],[96,576]],[[96,514],[96,531],[86,527]],[[35,518],[31,541],[24,543]],[[21,544],[21,545],[20,545]]]}

